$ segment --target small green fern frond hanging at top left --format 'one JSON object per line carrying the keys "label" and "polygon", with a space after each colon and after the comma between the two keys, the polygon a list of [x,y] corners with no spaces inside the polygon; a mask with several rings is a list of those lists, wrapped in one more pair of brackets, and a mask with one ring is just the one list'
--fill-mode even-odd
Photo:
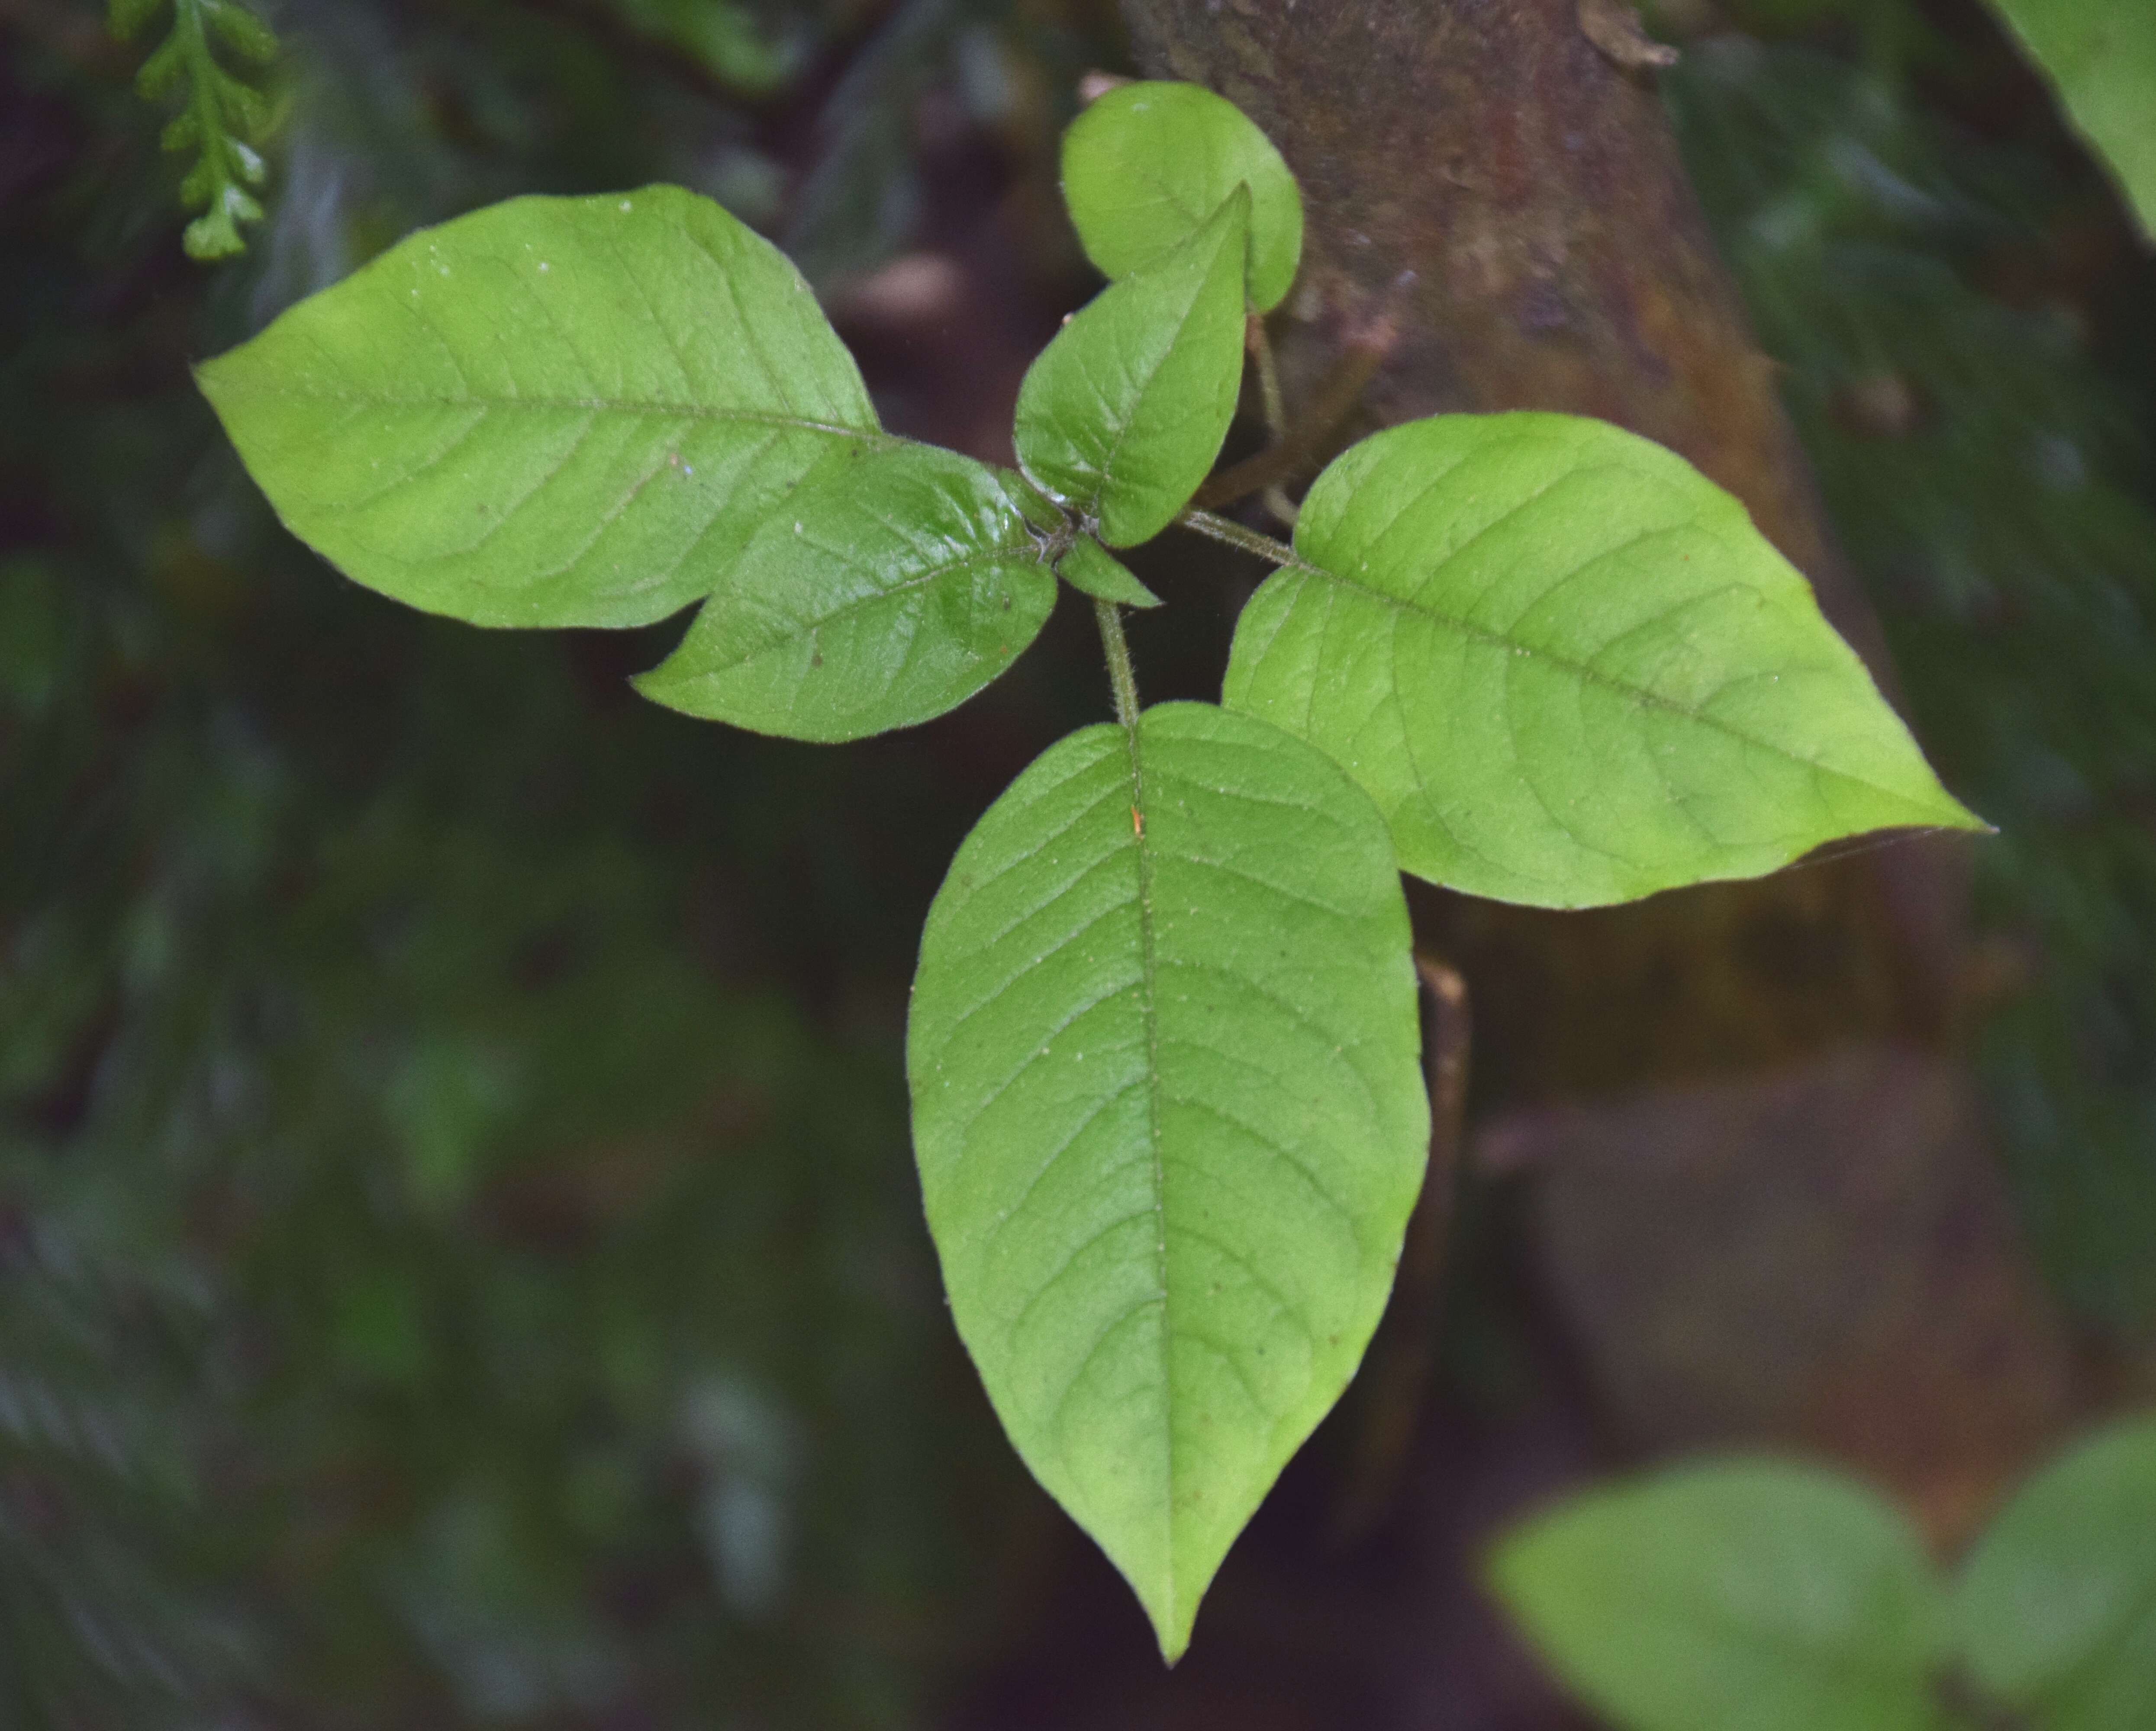
{"label": "small green fern frond hanging at top left", "polygon": [[[132,37],[162,9],[164,0],[110,0],[112,32]],[[263,207],[248,188],[263,183],[254,142],[270,125],[270,103],[224,69],[220,45],[252,65],[276,58],[276,37],[244,0],[172,0],[172,28],[136,78],[149,101],[185,93],[179,114],[164,129],[164,147],[194,151],[179,196],[203,216],[188,224],[183,244],[190,259],[205,261],[244,252],[239,224],[261,220]]]}

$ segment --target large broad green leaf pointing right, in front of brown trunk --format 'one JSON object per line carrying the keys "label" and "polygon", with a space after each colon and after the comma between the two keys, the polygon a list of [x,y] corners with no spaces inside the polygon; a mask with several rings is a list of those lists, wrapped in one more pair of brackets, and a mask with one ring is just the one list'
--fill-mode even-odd
{"label": "large broad green leaf pointing right, in front of brown trunk", "polygon": [[1332,752],[1401,864],[1589,908],[1981,828],[1744,507],[1602,420],[1438,416],[1311,487],[1225,703]]}

